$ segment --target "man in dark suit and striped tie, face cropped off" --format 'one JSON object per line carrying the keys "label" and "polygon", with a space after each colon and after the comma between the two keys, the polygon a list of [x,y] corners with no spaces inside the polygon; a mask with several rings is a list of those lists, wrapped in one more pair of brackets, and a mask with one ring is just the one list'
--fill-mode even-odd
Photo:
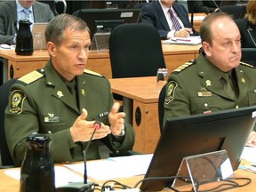
{"label": "man in dark suit and striped tie, face cropped off", "polygon": [[[170,10],[178,20],[180,29],[175,29],[171,19]],[[186,37],[198,35],[188,20],[188,12],[182,4],[175,3],[174,0],[159,0],[145,4],[141,8],[140,20],[154,26],[162,39],[169,39],[174,36]]]}

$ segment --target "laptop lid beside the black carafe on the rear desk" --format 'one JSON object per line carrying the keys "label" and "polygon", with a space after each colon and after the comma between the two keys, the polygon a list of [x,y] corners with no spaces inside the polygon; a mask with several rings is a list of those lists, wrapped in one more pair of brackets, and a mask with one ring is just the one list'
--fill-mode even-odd
{"label": "laptop lid beside the black carafe on the rear desk", "polygon": [[[43,49],[45,50],[46,49],[46,40],[45,40],[45,36],[44,36],[44,31],[45,31],[45,28],[47,26],[47,22],[43,22],[43,23],[34,23],[33,24],[33,27],[32,27],[32,36],[33,36],[33,47],[34,47],[34,50],[39,50],[39,49]],[[40,36],[41,34],[41,37],[42,37],[42,45],[41,45],[41,48],[39,47],[39,45],[36,43],[36,35]]]}

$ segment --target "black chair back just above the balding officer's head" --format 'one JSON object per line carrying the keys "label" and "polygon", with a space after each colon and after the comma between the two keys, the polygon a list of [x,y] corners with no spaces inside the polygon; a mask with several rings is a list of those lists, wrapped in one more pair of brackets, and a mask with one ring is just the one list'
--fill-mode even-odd
{"label": "black chair back just above the balding officer's head", "polygon": [[226,12],[233,17],[234,20],[244,18],[246,5],[226,5],[221,6],[217,12]]}

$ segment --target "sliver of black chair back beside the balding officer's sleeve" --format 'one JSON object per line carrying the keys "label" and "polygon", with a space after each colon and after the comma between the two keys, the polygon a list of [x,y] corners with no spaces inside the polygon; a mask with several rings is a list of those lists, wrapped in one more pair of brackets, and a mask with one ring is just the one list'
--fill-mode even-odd
{"label": "sliver of black chair back beside the balding officer's sleeve", "polygon": [[161,89],[159,93],[159,98],[158,98],[158,118],[159,118],[160,133],[162,133],[164,129],[163,121],[164,121],[165,93],[166,93],[166,84],[164,84],[163,88]]}

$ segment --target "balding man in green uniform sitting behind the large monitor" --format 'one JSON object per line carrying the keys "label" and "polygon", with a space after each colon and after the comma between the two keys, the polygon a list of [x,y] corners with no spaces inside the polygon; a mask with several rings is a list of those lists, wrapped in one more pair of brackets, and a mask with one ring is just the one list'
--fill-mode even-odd
{"label": "balding man in green uniform sitting behind the large monitor", "polygon": [[[164,122],[172,116],[256,105],[256,68],[240,62],[241,36],[227,14],[212,13],[201,25],[203,51],[168,79]],[[255,132],[251,144],[256,146]]]}

